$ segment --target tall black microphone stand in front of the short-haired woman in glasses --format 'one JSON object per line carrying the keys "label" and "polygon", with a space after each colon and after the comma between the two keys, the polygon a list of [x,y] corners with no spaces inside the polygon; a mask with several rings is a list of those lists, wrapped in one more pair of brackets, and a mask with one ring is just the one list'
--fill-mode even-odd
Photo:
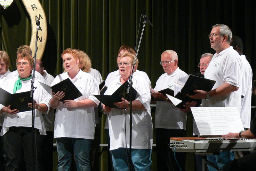
{"label": "tall black microphone stand in front of the short-haired woman in glasses", "polygon": [[[136,60],[138,57],[138,53],[139,53],[139,49],[140,49],[140,43],[141,43],[141,39],[142,39],[142,35],[144,32],[144,28],[145,25],[148,21],[149,25],[152,27],[152,23],[149,21],[148,17],[145,14],[141,14],[140,15],[140,21],[141,21],[141,17],[144,19],[143,21],[143,27],[142,27],[142,31],[141,31],[141,35],[140,35],[140,40],[139,40],[139,45],[138,45],[138,49],[136,52],[136,48],[137,48],[137,42],[138,42],[138,35],[139,35],[139,30],[140,30],[140,24],[139,24],[139,28],[138,28],[138,35],[136,38],[136,45],[135,45],[135,53],[136,53],[136,57],[133,63],[133,68],[132,68],[132,74],[130,74],[129,76],[129,84],[128,84],[128,88],[127,88],[127,94],[130,92],[130,138],[129,138],[129,167],[130,167],[130,171],[132,171],[132,75],[134,73],[134,68],[135,68],[135,64],[136,64]],[[134,54],[135,55],[135,54]],[[134,59],[134,55],[133,55],[133,59]]]}

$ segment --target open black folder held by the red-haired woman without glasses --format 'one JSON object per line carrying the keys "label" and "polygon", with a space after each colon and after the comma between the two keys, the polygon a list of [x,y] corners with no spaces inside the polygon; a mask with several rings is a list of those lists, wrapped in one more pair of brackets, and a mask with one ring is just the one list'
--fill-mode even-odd
{"label": "open black folder held by the red-haired woman without glasses", "polygon": [[[60,99],[61,102],[63,102],[64,100],[74,100],[74,99],[76,99],[76,98],[78,98],[78,97],[83,96],[82,93],[81,93],[81,92],[76,88],[76,86],[73,84],[73,82],[71,82],[71,81],[69,80],[69,78],[67,78],[67,79],[65,79],[65,80],[63,80],[63,81],[61,81],[61,82],[59,82],[59,83],[53,85],[52,87],[50,87],[49,85],[44,84],[44,83],[42,83],[42,82],[39,82],[39,83],[44,87],[44,89],[45,89],[51,96],[52,96],[52,91],[53,91],[53,92],[58,92],[58,91],[59,91],[59,89],[58,89],[58,86],[59,86],[59,85],[62,85],[62,84],[65,83],[66,86],[71,86],[71,89],[72,89],[72,90],[69,90],[69,91],[72,91],[72,93],[71,93],[71,92],[69,93],[71,97],[67,96],[67,92],[64,91],[64,92],[65,92],[65,96],[64,96],[62,99]],[[50,91],[50,90],[51,90],[51,91]]]}

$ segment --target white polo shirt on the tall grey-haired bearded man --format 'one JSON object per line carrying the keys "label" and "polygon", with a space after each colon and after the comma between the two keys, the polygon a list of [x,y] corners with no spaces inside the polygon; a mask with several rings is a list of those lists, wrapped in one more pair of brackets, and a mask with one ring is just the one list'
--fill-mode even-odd
{"label": "white polo shirt on the tall grey-haired bearded man", "polygon": [[241,92],[243,65],[240,55],[230,46],[221,51],[219,54],[215,53],[204,72],[204,78],[215,80],[212,89],[229,83],[238,87],[237,91],[230,94],[218,97],[211,97],[209,100],[202,99],[203,107],[237,107],[240,113],[241,107]]}

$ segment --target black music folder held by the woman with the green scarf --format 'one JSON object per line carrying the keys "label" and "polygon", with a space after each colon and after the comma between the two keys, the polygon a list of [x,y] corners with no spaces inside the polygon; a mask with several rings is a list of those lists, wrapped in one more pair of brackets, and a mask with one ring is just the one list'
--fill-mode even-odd
{"label": "black music folder held by the woman with the green scarf", "polygon": [[0,94],[0,104],[4,105],[5,107],[11,105],[11,110],[18,109],[19,112],[32,110],[32,108],[28,107],[28,103],[32,103],[30,91],[11,94],[0,88]]}

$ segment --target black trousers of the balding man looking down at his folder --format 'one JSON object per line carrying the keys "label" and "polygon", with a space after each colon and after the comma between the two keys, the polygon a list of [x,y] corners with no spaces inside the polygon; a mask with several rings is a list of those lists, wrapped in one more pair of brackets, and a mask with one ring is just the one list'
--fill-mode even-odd
{"label": "black trousers of the balding man looking down at his folder", "polygon": [[[177,165],[174,153],[168,144],[170,143],[171,137],[184,137],[184,129],[165,129],[165,128],[156,128],[156,157],[157,157],[157,170],[168,171],[168,159],[171,167],[174,171],[180,171],[179,166]],[[169,153],[169,154],[168,154]],[[185,156],[184,152],[175,152],[176,159],[182,170],[185,170]],[[170,168],[170,170],[172,170]]]}

